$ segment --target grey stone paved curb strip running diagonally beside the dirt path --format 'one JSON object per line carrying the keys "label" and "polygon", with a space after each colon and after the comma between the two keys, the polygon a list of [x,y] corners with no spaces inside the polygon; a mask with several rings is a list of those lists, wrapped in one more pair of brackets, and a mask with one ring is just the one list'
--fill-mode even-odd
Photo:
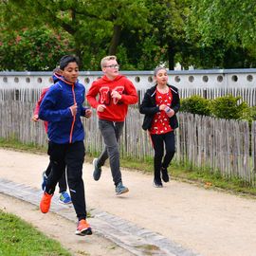
{"label": "grey stone paved curb strip running diagonally beside the dirt path", "polygon": [[[0,192],[39,206],[42,191],[17,184],[0,178]],[[77,222],[72,205],[66,206],[58,202],[58,197],[52,199],[50,211],[64,218]],[[123,247],[135,255],[161,255],[161,256],[199,256],[170,241],[164,236],[149,229],[139,228],[133,223],[118,216],[100,210],[89,210],[89,219],[93,231],[111,240],[119,247]]]}

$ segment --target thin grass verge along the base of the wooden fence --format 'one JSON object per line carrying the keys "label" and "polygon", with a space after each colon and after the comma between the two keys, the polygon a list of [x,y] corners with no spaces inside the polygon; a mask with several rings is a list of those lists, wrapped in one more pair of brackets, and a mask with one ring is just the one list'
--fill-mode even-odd
{"label": "thin grass verge along the base of the wooden fence", "polygon": [[[0,147],[33,153],[46,153],[46,148],[44,147],[33,144],[23,144],[13,138],[0,138]],[[93,155],[86,154],[85,161],[91,162],[95,156],[97,156],[96,153]],[[153,157],[148,157],[145,160],[122,157],[120,159],[120,165],[130,170],[153,174]],[[247,182],[239,178],[223,177],[219,173],[212,174],[210,169],[192,169],[189,163],[186,166],[181,166],[173,162],[169,169],[171,170],[173,179],[189,182],[196,186],[204,187],[205,189],[221,189],[226,192],[256,196],[256,188],[249,186]]]}

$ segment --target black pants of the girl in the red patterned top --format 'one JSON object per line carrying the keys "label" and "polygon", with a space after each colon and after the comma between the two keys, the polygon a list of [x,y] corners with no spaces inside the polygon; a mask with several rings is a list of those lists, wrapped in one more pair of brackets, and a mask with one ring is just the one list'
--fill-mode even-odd
{"label": "black pants of the girl in the red patterned top", "polygon": [[[175,154],[175,137],[174,132],[163,135],[151,135],[154,155],[154,174],[155,180],[159,181],[161,167],[168,168]],[[164,155],[164,145],[166,154]],[[163,158],[164,156],[164,158]],[[163,159],[163,161],[162,161]]]}

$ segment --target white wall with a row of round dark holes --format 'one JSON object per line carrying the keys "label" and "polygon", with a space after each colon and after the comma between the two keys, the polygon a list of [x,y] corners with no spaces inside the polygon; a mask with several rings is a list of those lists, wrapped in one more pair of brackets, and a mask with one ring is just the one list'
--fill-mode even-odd
{"label": "white wall with a row of round dark holes", "polygon": [[[154,84],[153,71],[120,71],[137,89]],[[255,88],[256,68],[168,71],[169,83],[178,88]],[[0,72],[1,88],[44,88],[52,84],[51,72]],[[81,71],[80,81],[88,88],[102,76],[99,71]]]}

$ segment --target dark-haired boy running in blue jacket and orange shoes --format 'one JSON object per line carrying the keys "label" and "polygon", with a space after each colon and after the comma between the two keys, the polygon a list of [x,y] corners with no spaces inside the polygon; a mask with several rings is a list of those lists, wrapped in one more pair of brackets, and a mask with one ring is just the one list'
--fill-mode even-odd
{"label": "dark-haired boy running in blue jacket and orange shoes", "polygon": [[50,209],[51,198],[66,165],[69,192],[78,217],[76,234],[90,235],[92,230],[86,221],[82,180],[85,150],[81,116],[89,118],[92,112],[82,106],[85,89],[82,83],[78,82],[78,58],[64,56],[60,61],[60,68],[63,76],[59,82],[49,87],[39,111],[39,119],[48,121],[48,155],[52,163],[40,209],[43,213]]}

